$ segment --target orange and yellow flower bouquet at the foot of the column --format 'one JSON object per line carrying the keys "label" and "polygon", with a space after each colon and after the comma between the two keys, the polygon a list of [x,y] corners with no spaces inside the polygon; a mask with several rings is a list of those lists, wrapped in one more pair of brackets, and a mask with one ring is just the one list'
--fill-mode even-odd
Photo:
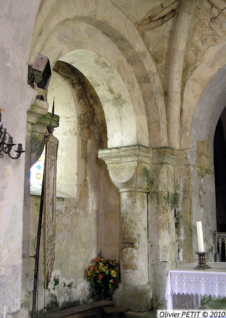
{"label": "orange and yellow flower bouquet at the foot of the column", "polygon": [[88,268],[89,286],[94,287],[93,295],[98,294],[101,299],[112,298],[113,291],[119,283],[119,270],[116,261],[97,257],[92,260]]}

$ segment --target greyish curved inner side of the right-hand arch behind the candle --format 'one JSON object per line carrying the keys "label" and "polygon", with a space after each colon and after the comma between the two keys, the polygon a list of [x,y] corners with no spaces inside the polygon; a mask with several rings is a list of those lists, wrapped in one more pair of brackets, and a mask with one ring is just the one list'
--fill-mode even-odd
{"label": "greyish curved inner side of the right-hand arch behind the candle", "polygon": [[[216,126],[226,106],[225,79],[226,65],[203,89],[196,103],[191,123],[193,229],[196,233],[196,221],[203,222],[206,249],[210,254],[209,259],[212,260],[215,246],[214,233],[217,229],[213,146]],[[196,241],[196,237],[194,240]]]}

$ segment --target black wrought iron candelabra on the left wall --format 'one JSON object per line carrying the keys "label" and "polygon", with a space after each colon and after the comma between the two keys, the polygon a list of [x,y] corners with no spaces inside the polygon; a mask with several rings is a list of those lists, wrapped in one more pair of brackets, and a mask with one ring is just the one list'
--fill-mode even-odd
{"label": "black wrought iron candelabra on the left wall", "polygon": [[[1,122],[1,111],[0,109],[0,122]],[[6,142],[7,139],[7,142]],[[22,153],[25,151],[23,150],[22,144],[18,144],[17,150],[15,152],[17,155],[15,157],[12,157],[10,154],[10,151],[12,150],[12,147],[16,144],[13,143],[13,137],[7,133],[6,128],[3,127],[3,124],[0,125],[0,158],[3,157],[3,153],[8,155],[11,159],[18,159]]]}

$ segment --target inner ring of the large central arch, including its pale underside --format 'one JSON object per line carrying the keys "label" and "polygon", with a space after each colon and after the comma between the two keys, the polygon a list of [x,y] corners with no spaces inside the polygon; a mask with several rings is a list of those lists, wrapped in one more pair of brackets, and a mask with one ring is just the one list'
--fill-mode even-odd
{"label": "inner ring of the large central arch, including its pale underside", "polygon": [[[52,65],[62,60],[75,66],[92,83],[105,112],[109,148],[148,146],[140,87],[131,66],[108,37],[87,23],[65,21],[52,30],[41,54],[48,56]],[[118,64],[123,75],[113,63]]]}

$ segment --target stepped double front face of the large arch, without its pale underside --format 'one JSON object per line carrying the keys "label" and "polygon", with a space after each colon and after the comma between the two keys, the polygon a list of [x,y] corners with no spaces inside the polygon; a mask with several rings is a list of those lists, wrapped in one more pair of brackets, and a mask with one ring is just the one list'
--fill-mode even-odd
{"label": "stepped double front face of the large arch, without its pale underside", "polygon": [[136,144],[167,145],[166,109],[156,65],[136,28],[112,1],[77,0],[73,5],[69,0],[41,1],[31,47],[30,64],[37,52],[47,55],[52,65],[78,49],[104,57],[131,95]]}

